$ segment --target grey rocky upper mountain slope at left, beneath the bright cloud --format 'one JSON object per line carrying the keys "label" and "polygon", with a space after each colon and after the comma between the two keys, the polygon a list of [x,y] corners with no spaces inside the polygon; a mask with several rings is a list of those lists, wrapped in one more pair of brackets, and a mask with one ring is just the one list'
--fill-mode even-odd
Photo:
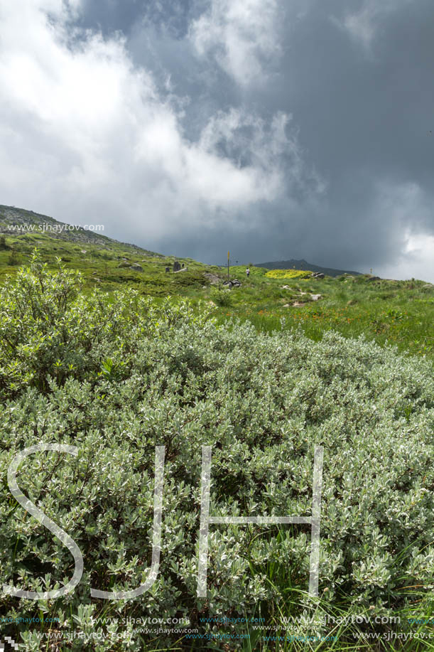
{"label": "grey rocky upper mountain slope at left, beneath the bright cloud", "polygon": [[[45,235],[58,240],[76,242],[81,245],[98,245],[102,248],[110,247],[116,243],[116,245],[122,245],[124,248],[146,255],[161,255],[142,249],[136,245],[119,242],[119,240],[114,240],[111,237],[107,237],[107,235],[102,235],[99,233],[98,226],[92,224],[95,230],[84,229],[78,225],[68,225],[63,222],[58,222],[58,220],[50,218],[48,215],[34,213],[33,210],[0,204],[0,235],[20,237],[20,240],[24,241],[33,239],[34,236]],[[74,228],[71,229],[70,227]]]}

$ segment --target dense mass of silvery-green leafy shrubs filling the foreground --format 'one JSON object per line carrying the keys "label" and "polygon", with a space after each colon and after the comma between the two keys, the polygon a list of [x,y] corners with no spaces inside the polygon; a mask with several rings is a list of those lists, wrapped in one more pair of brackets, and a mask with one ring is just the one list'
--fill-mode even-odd
{"label": "dense mass of silvery-green leafy shrubs filling the foreground", "polygon": [[[2,291],[1,474],[33,444],[76,446],[76,458],[31,456],[18,483],[85,557],[75,592],[57,601],[3,597],[2,616],[43,612],[64,628],[116,634],[146,616],[188,616],[210,631],[200,618],[269,615],[288,595],[307,609],[306,525],[213,525],[208,597],[197,598],[202,445],[212,446],[210,513],[308,515],[313,448],[322,444],[320,594],[327,589],[330,604],[388,614],[409,604],[403,587],[432,583],[431,365],[362,338],[258,335],[249,323],[217,327],[185,301],[158,307],[130,291],[110,302],[79,289],[77,274],[48,272],[35,259]],[[128,590],[148,577],[156,445],[166,447],[157,580],[134,600],[92,599],[90,587]],[[72,577],[67,547],[6,484],[0,545],[5,584],[50,590]],[[92,623],[107,614],[130,621]],[[39,649],[33,626],[6,633],[18,638],[18,629]],[[136,631],[128,649],[167,649],[180,638]],[[89,641],[87,649],[126,644]]]}

